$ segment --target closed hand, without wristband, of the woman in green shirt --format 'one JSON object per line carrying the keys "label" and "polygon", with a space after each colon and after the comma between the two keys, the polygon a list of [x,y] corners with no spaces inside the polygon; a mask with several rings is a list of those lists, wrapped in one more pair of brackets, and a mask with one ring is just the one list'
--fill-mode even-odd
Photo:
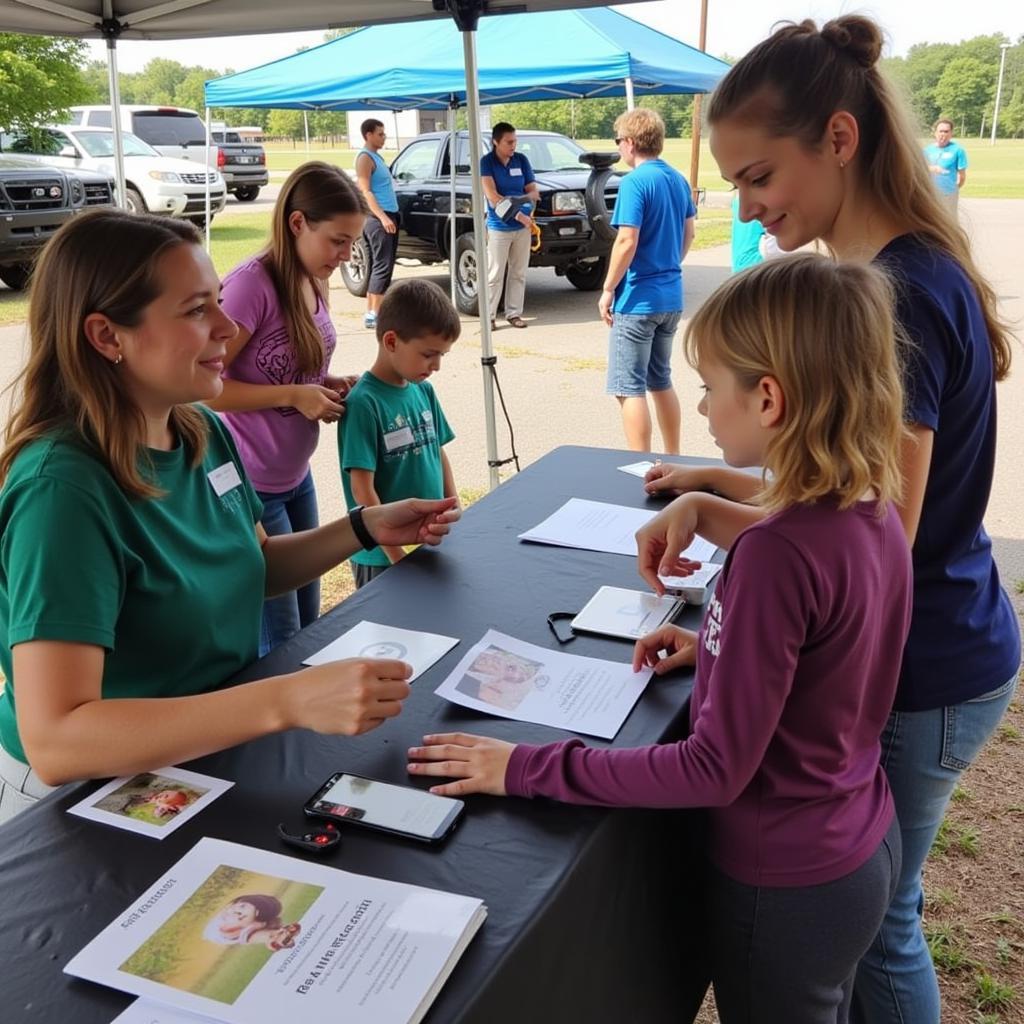
{"label": "closed hand, without wristband, of the woman in green shirt", "polygon": [[413,667],[393,658],[353,657],[281,677],[288,728],[357,736],[401,712]]}

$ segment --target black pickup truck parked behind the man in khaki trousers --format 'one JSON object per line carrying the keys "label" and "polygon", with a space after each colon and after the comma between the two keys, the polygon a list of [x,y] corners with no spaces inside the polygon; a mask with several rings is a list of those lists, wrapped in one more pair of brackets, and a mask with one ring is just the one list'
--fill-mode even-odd
{"label": "black pickup truck parked behind the man in khaki trousers", "polygon": [[[611,171],[617,154],[591,154],[555,132],[519,130],[516,152],[524,154],[537,175],[541,199],[534,219],[540,248],[530,266],[553,266],[581,291],[597,291],[604,282],[614,240],[610,210],[622,175]],[[451,250],[451,135],[430,132],[413,139],[391,163],[401,212],[398,257],[440,263]],[[481,153],[480,156],[483,154]],[[473,249],[469,137],[456,135],[456,302],[460,311],[478,315],[477,266]],[[366,295],[370,254],[360,239],[352,258],[341,267],[345,287]]]}

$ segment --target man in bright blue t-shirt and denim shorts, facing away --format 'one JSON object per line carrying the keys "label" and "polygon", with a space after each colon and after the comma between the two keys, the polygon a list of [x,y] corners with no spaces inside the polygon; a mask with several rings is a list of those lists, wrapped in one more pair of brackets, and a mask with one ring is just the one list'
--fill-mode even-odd
{"label": "man in bright blue t-shirt and denim shorts, facing away", "polygon": [[693,241],[690,186],[660,159],[665,122],[637,108],[615,121],[615,144],[632,173],[623,178],[611,223],[618,228],[598,303],[611,328],[607,393],[618,399],[626,443],[651,451],[647,392],[663,451],[679,454],[679,398],[672,387],[672,342],[683,314],[682,262]]}

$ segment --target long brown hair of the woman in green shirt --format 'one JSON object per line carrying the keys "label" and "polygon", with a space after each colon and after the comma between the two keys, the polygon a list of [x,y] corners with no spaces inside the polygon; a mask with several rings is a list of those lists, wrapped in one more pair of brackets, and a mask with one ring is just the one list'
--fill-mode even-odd
{"label": "long brown hair of the woman in green shirt", "polygon": [[[187,221],[122,210],[91,210],[53,236],[32,278],[29,359],[11,385],[19,390],[12,390],[0,481],[22,449],[63,428],[99,455],[127,494],[162,494],[139,470],[146,452],[142,412],[118,368],[89,342],[84,325],[90,313],[103,313],[122,327],[138,326],[162,292],[162,258],[177,246],[200,244]],[[170,426],[199,465],[207,441],[203,414],[176,406]]]}

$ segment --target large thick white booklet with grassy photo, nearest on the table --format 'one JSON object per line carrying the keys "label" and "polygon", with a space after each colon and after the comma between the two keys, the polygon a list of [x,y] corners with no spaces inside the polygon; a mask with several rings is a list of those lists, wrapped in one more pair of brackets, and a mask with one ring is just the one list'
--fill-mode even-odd
{"label": "large thick white booklet with grassy photo, nearest on the table", "polygon": [[407,1024],[485,915],[468,896],[203,839],[65,971],[231,1024]]}

